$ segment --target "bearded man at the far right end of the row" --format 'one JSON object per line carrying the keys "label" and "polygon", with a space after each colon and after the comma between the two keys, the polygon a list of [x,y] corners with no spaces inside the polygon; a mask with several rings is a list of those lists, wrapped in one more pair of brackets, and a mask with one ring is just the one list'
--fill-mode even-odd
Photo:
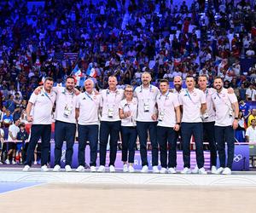
{"label": "bearded man at the far right end of the row", "polygon": [[[234,159],[235,130],[238,127],[239,106],[236,95],[234,93],[229,94],[228,90],[223,88],[222,78],[215,78],[213,86],[217,90],[212,95],[212,102],[216,111],[214,132],[220,164],[216,173],[230,175]],[[228,147],[227,163],[225,141]]]}

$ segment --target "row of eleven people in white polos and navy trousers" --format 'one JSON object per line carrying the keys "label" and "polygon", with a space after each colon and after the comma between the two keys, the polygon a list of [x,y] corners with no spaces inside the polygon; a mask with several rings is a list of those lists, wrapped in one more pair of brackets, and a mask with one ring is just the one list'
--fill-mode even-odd
{"label": "row of eleven people in white polos and navy trousers", "polygon": [[[206,76],[199,77],[199,89],[195,89],[193,77],[186,78],[187,89],[182,89],[182,78],[178,76],[173,80],[174,89],[169,89],[169,82],[166,80],[160,81],[160,89],[150,82],[150,74],[143,72],[142,85],[134,91],[130,85],[125,90],[117,89],[117,79],[111,76],[108,78],[108,89],[102,89],[98,93],[94,89],[94,82],[87,79],[84,82],[85,91],[79,93],[79,90],[75,89],[73,77],[67,78],[66,87],[53,87],[53,80],[46,78],[44,87],[34,91],[26,108],[28,121],[32,122],[32,130],[26,165],[23,170],[30,170],[32,155],[40,137],[42,141],[41,170],[49,170],[47,162],[52,109],[55,105],[55,167],[53,171],[61,170],[63,141],[67,143],[65,170],[72,171],[73,143],[76,124],[78,124],[79,167],[77,171],[84,171],[86,141],[90,142],[90,170],[96,171],[99,133],[100,166],[97,171],[105,171],[109,141],[109,171],[114,172],[119,131],[121,126],[126,126],[128,128],[126,130],[131,130],[132,133],[136,132],[138,135],[142,172],[148,172],[147,142],[149,134],[154,173],[177,172],[177,137],[181,135],[184,167],[181,173],[207,174],[204,169],[203,153],[203,133],[205,132],[211,152],[212,173],[231,174],[234,157],[234,130],[237,128],[239,109],[236,95],[223,88],[222,79],[214,79],[214,89],[207,88]],[[133,105],[131,106],[130,103]],[[195,138],[197,162],[194,170],[190,170],[190,139],[192,135]],[[129,139],[130,136],[131,134],[127,135],[127,138]],[[134,152],[132,153],[132,149],[135,149],[133,141],[136,140],[134,134],[132,134],[132,138],[130,140],[132,146],[129,148],[130,155],[134,155]],[[227,163],[225,141],[228,147]],[[167,147],[169,147],[168,158]],[[158,167],[159,148],[161,170]],[[220,162],[218,169],[216,167],[217,150]],[[125,158],[122,158],[124,171],[128,171],[125,167],[127,161]],[[129,157],[129,171],[131,172],[134,171],[133,159],[132,156],[131,160]]]}

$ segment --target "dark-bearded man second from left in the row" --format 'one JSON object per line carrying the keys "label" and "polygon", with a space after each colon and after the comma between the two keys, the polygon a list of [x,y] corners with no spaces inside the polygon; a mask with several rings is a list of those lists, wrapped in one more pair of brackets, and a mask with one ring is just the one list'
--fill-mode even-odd
{"label": "dark-bearded man second from left in the row", "polygon": [[54,87],[56,93],[55,108],[55,167],[53,171],[61,170],[61,153],[63,142],[66,141],[65,170],[72,171],[73,143],[76,134],[76,91],[75,78],[68,76],[66,87]]}

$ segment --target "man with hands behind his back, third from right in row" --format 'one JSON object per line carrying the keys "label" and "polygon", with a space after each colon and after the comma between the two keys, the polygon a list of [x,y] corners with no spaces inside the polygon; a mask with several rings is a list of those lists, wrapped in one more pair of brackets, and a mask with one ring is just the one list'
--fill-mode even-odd
{"label": "man with hands behind his back, third from right in row", "polygon": [[207,174],[204,169],[204,152],[202,138],[201,114],[207,110],[206,96],[200,89],[195,89],[195,79],[192,76],[186,78],[187,89],[179,95],[180,105],[183,110],[182,118],[182,138],[183,138],[183,162],[182,174],[191,173],[190,170],[190,139],[195,137],[196,163],[199,174]]}

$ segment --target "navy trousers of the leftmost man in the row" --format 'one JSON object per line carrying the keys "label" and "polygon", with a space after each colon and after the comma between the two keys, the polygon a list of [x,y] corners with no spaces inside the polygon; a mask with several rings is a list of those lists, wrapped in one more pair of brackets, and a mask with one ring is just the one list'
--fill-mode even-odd
{"label": "navy trousers of the leftmost man in the row", "polygon": [[31,137],[27,147],[26,165],[31,166],[35,147],[41,137],[41,165],[46,165],[49,158],[51,124],[32,124]]}

